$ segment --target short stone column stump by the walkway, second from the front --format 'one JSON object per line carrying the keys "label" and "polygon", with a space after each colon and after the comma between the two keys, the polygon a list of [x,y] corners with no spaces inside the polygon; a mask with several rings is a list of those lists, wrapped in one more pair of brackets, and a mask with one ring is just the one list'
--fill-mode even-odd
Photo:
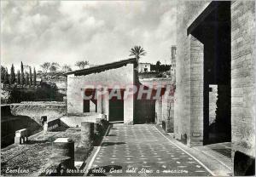
{"label": "short stone column stump by the walkway, second from the front", "polygon": [[81,146],[92,147],[94,135],[94,123],[81,123]]}

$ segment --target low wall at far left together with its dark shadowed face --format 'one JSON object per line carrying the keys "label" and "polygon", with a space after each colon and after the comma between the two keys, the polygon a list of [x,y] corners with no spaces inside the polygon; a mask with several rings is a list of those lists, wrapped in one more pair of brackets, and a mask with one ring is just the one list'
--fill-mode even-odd
{"label": "low wall at far left together with its dark shadowed face", "polygon": [[66,104],[55,101],[30,101],[1,106],[1,147],[14,143],[16,130],[28,128],[29,135],[35,134],[43,129],[42,116],[47,116],[51,122],[66,115],[66,112]]}

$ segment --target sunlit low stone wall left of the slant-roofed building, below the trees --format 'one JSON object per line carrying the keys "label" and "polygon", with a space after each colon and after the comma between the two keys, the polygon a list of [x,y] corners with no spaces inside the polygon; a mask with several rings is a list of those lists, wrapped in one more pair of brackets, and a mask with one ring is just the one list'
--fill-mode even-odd
{"label": "sunlit low stone wall left of the slant-roofed building, below the trees", "polygon": [[21,102],[10,105],[11,113],[14,116],[31,117],[34,121],[41,124],[41,117],[47,116],[47,120],[61,118],[67,113],[67,106],[63,102]]}

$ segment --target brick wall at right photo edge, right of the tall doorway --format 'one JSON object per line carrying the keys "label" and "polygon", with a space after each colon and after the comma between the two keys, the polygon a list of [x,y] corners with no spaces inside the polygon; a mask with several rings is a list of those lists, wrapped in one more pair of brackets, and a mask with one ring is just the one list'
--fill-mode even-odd
{"label": "brick wall at right photo edge, right of the tall doorway", "polygon": [[231,3],[232,152],[255,157],[255,2]]}

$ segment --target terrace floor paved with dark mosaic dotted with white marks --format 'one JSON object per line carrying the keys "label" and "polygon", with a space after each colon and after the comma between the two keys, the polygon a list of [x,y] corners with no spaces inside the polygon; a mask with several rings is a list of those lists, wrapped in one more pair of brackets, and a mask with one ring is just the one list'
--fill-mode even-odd
{"label": "terrace floor paved with dark mosaic dotted with white marks", "polygon": [[201,163],[178,148],[153,124],[114,124],[91,159],[88,175],[207,176]]}

